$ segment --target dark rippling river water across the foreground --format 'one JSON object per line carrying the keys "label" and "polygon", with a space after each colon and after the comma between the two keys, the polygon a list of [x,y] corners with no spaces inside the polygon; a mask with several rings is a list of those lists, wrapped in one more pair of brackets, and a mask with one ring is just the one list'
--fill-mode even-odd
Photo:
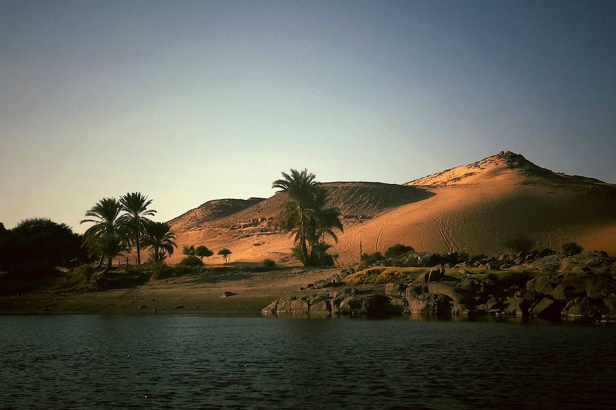
{"label": "dark rippling river water across the foreground", "polygon": [[0,316],[0,407],[614,408],[616,328]]}

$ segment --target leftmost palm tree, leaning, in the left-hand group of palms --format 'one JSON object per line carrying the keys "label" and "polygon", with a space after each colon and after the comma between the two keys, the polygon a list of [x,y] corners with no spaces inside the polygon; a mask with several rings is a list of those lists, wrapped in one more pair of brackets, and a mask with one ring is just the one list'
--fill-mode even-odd
{"label": "leftmost palm tree, leaning, in the left-hand group of palms", "polygon": [[80,223],[94,223],[83,234],[83,244],[91,253],[100,255],[98,265],[102,264],[102,252],[100,251],[101,238],[107,235],[117,235],[121,230],[121,223],[118,218],[122,212],[122,205],[115,198],[102,198],[94,207],[91,207]]}

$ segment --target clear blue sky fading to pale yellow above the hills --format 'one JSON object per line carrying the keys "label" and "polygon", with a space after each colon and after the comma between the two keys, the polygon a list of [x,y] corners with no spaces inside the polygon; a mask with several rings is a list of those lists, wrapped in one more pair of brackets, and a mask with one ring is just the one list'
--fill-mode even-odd
{"label": "clear blue sky fading to pale yellow above the hills", "polygon": [[614,1],[0,0],[0,222],[500,150],[616,183]]}

